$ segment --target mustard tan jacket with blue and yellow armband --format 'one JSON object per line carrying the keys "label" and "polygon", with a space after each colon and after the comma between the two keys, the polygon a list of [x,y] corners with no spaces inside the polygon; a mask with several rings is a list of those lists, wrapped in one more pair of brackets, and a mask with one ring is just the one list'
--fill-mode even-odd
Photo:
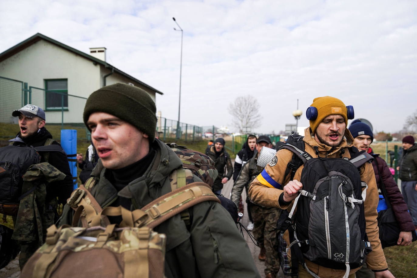
{"label": "mustard tan jacket with blue and yellow armband", "polygon": [[[303,141],[305,142],[305,151],[309,153],[311,157],[317,158],[317,155],[313,149],[314,146],[318,147],[319,157],[328,157],[328,158],[339,158],[342,150],[344,153],[342,157],[350,158],[349,150],[346,147],[352,147],[353,137],[348,129],[345,130],[344,139],[339,147],[332,149],[328,145],[317,142],[314,139],[314,136],[310,134],[311,129],[306,128]],[[277,162],[274,166],[266,165],[265,170],[258,175],[257,178],[251,183],[249,187],[249,196],[251,200],[259,205],[266,207],[276,207],[282,209],[290,209],[290,205],[280,206],[278,203],[278,198],[281,194],[284,193],[282,188],[289,182],[290,176],[285,175],[285,170],[288,163],[292,158],[291,151],[289,150],[279,150],[276,153]],[[294,175],[294,180],[300,180],[301,171],[303,170],[304,165],[296,171]],[[379,201],[377,183],[375,180],[374,169],[372,168],[371,163],[365,163],[360,168],[361,180],[367,183],[367,195],[364,202],[364,213],[366,219],[366,232],[368,239],[371,243],[372,252],[367,255],[367,265],[368,268],[372,270],[383,270],[388,268],[387,262],[385,260],[384,251],[382,250],[381,242],[379,241],[379,229],[377,223],[377,205]],[[319,269],[319,266],[306,261],[307,267],[310,270]],[[320,266],[320,269],[323,267]],[[359,268],[357,268],[359,269]],[[354,273],[357,269],[351,270],[351,274]],[[334,271],[337,270],[333,270]],[[344,275],[344,270],[340,270],[341,277]]]}

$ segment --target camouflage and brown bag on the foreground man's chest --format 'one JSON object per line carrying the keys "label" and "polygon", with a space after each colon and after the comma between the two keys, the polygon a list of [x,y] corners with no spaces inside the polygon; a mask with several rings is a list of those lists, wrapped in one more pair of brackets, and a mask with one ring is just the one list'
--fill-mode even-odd
{"label": "camouflage and brown bag on the foreground man's chest", "polygon": [[151,228],[48,228],[21,277],[164,277],[166,236]]}

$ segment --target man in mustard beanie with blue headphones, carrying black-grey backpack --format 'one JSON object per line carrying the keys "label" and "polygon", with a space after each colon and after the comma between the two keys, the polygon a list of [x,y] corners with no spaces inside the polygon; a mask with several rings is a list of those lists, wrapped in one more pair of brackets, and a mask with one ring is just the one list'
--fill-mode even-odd
{"label": "man in mustard beanie with blue headphones, carrying black-grey backpack", "polygon": [[352,278],[366,257],[375,277],[394,277],[379,240],[374,170],[347,130],[353,107],[329,96],[314,98],[306,117],[305,137],[291,142],[296,149],[284,145],[249,188],[258,205],[290,212],[293,224],[281,228],[287,229],[291,276]]}

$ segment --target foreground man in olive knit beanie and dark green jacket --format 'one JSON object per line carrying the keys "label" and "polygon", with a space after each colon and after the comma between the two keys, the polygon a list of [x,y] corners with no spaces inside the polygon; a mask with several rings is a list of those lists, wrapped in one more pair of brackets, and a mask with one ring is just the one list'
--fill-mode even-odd
{"label": "foreground man in olive knit beanie and dark green jacket", "polygon": [[[103,87],[88,98],[84,122],[100,157],[91,194],[101,206],[135,210],[171,192],[168,177],[182,162],[154,138],[155,112],[145,91],[126,84]],[[201,180],[186,176],[186,184],[195,181]],[[219,203],[198,203],[188,212],[189,228],[181,215],[154,228],[167,237],[166,277],[259,277],[244,238]],[[60,225],[71,224],[72,217],[73,210],[65,205]]]}

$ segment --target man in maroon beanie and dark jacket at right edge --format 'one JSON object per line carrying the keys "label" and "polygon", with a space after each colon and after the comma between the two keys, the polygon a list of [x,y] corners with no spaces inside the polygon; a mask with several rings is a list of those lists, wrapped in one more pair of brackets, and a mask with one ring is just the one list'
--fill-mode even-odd
{"label": "man in maroon beanie and dark jacket at right edge", "polygon": [[401,191],[407,203],[414,228],[417,229],[417,144],[411,135],[402,138],[403,155],[399,160]]}

